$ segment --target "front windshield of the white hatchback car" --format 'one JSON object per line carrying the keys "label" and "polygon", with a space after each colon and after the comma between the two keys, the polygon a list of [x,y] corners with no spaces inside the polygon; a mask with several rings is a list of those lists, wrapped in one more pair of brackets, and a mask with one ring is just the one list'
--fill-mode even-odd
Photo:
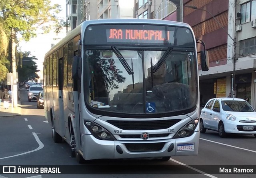
{"label": "front windshield of the white hatchback car", "polygon": [[233,111],[233,112],[254,112],[252,107],[246,101],[222,101],[222,109],[224,111]]}

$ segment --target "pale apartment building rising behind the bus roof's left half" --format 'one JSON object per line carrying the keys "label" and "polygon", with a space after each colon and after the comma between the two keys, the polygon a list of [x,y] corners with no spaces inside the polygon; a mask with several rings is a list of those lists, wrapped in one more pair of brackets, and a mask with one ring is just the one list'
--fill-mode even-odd
{"label": "pale apartment building rising behind the bus roof's left half", "polygon": [[67,32],[85,20],[133,18],[134,0],[66,0]]}

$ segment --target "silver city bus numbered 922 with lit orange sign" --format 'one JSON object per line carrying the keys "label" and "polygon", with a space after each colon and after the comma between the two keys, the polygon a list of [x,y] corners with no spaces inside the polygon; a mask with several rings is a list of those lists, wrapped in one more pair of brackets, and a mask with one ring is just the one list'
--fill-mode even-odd
{"label": "silver city bus numbered 922 with lit orange sign", "polygon": [[185,23],[83,22],[45,55],[44,109],[54,142],[66,141],[79,163],[197,155],[198,54],[208,70],[205,44]]}

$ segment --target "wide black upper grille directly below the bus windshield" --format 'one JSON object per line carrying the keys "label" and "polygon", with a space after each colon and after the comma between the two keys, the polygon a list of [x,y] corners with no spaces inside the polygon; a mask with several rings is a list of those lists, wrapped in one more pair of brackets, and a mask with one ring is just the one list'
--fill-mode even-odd
{"label": "wide black upper grille directly below the bus windshield", "polygon": [[174,124],[180,122],[181,119],[158,120],[158,121],[114,121],[109,120],[108,123],[123,130],[157,130],[167,129]]}

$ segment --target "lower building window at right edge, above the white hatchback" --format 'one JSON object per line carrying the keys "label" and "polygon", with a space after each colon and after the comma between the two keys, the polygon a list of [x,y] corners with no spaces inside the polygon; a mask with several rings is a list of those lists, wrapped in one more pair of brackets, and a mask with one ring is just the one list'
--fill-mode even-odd
{"label": "lower building window at right edge, above the white hatchback", "polygon": [[256,38],[240,41],[240,55],[250,55],[256,53]]}

